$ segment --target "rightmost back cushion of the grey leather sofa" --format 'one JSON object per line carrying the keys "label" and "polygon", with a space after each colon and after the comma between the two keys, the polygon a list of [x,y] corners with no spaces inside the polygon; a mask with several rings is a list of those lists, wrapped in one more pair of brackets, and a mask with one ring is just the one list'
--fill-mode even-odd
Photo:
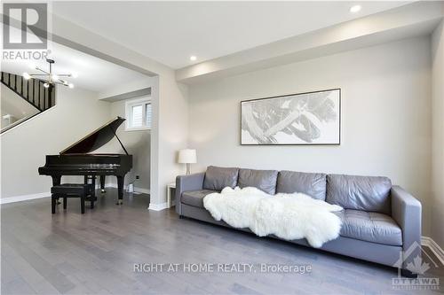
{"label": "rightmost back cushion of the grey leather sofa", "polygon": [[327,202],[345,209],[390,214],[391,188],[387,177],[327,175]]}

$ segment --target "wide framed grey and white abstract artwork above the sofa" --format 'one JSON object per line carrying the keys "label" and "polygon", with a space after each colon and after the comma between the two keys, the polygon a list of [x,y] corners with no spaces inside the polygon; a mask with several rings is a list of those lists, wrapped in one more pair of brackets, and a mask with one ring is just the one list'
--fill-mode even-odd
{"label": "wide framed grey and white abstract artwork above the sofa", "polygon": [[341,89],[241,102],[241,144],[340,144]]}

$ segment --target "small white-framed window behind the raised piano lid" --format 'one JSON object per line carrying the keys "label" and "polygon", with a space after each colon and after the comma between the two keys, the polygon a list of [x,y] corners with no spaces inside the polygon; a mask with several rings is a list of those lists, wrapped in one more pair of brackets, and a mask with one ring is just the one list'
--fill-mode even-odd
{"label": "small white-framed window behind the raised piano lid", "polygon": [[126,102],[126,130],[151,129],[151,99],[140,97]]}

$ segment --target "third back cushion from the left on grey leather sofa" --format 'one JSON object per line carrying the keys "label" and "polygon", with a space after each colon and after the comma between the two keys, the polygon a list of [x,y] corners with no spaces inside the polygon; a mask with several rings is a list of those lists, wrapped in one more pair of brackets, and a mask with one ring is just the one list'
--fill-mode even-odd
{"label": "third back cushion from the left on grey leather sofa", "polygon": [[327,175],[293,171],[279,172],[276,193],[302,192],[312,198],[325,200]]}

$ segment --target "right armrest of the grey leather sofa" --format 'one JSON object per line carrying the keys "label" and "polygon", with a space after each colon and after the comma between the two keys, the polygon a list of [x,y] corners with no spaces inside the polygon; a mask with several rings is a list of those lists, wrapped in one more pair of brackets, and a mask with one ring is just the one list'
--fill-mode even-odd
{"label": "right armrest of the grey leather sofa", "polygon": [[421,203],[400,186],[392,186],[391,194],[392,218],[402,229],[402,250],[406,252],[402,268],[405,269],[408,262],[421,256]]}

